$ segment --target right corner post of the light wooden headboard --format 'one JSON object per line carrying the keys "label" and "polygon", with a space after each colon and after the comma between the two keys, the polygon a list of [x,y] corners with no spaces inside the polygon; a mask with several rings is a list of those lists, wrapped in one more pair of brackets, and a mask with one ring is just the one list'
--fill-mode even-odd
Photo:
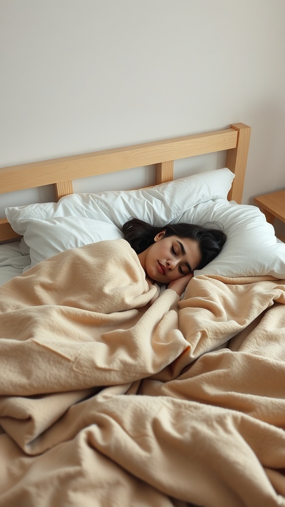
{"label": "right corner post of the light wooden headboard", "polygon": [[234,174],[232,188],[228,194],[228,200],[241,204],[244,176],[247,162],[248,147],[250,146],[251,127],[244,123],[234,123],[231,128],[238,131],[236,148],[227,151],[226,167]]}

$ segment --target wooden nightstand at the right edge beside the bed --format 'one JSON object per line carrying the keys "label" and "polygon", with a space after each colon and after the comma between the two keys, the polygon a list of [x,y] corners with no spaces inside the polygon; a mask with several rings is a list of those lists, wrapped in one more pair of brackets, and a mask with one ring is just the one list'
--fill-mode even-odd
{"label": "wooden nightstand at the right edge beside the bed", "polygon": [[[265,218],[269,224],[273,225],[275,218],[285,222],[285,190],[260,195],[255,197],[255,202],[265,214]],[[285,242],[283,234],[279,234],[277,237]]]}

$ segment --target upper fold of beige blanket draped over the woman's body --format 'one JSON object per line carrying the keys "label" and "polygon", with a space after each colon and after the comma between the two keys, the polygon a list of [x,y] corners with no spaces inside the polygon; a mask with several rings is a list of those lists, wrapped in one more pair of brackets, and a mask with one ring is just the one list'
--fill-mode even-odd
{"label": "upper fold of beige blanket draped over the woman's body", "polygon": [[177,329],[179,298],[168,290],[150,305],[157,290],[124,240],[67,250],[13,279],[0,291],[1,394],[88,389],[161,370],[188,343]]}

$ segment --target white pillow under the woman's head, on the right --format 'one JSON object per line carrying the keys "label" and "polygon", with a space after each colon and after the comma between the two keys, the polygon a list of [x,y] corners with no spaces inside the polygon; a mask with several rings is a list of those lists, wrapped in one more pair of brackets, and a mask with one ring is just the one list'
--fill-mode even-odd
{"label": "white pillow under the woman's head, on the right", "polygon": [[256,206],[215,199],[186,210],[181,222],[219,222],[227,234],[221,253],[200,274],[229,277],[271,275],[285,278],[285,244],[277,242],[274,228]]}

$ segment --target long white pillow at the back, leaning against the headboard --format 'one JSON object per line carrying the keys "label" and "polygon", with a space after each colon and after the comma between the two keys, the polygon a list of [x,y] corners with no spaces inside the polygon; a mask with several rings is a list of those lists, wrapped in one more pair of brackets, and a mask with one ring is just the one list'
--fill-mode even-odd
{"label": "long white pillow at the back, leaning against the headboard", "polygon": [[227,168],[206,171],[144,190],[72,194],[58,202],[9,207],[5,212],[14,231],[24,235],[24,219],[47,220],[55,216],[82,216],[121,228],[131,216],[164,225],[189,207],[218,197],[227,198],[234,174]]}

